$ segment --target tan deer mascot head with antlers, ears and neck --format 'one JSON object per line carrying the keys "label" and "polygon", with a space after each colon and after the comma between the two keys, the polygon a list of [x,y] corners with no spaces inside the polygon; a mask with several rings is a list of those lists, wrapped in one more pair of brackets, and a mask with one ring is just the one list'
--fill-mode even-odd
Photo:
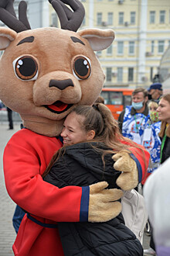
{"label": "tan deer mascot head with antlers, ears and neck", "polygon": [[[114,40],[112,29],[76,30],[84,9],[78,0],[49,0],[61,29],[31,29],[26,2],[0,1],[0,99],[19,112],[24,126],[49,137],[59,135],[76,105],[92,105],[104,85],[104,72],[93,51]],[[68,7],[67,5],[70,5]]]}

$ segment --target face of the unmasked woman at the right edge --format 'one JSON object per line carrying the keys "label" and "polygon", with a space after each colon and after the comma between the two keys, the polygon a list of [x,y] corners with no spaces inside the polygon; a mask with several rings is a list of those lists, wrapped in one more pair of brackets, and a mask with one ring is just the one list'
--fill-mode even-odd
{"label": "face of the unmasked woman at the right edge", "polygon": [[158,104],[158,119],[170,123],[170,104],[165,99],[161,99]]}

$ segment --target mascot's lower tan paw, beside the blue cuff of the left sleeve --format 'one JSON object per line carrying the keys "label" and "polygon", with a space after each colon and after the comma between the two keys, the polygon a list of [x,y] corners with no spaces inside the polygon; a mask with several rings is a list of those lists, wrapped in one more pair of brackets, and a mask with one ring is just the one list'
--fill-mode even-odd
{"label": "mascot's lower tan paw, beside the blue cuff of the left sleeve", "polygon": [[121,189],[105,189],[107,182],[98,182],[90,185],[89,222],[105,222],[121,213]]}

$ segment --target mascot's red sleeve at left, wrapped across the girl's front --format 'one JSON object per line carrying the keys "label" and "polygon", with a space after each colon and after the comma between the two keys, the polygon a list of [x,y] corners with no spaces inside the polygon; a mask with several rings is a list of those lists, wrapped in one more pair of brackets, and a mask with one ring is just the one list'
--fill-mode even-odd
{"label": "mascot's red sleeve at left, wrapped across the girl's front", "polygon": [[[5,185],[13,201],[29,213],[56,222],[76,222],[80,221],[80,209],[88,209],[88,196],[82,195],[82,188],[58,189],[41,177],[54,152],[61,146],[55,137],[45,137],[26,129],[15,133],[4,152]],[[83,191],[88,193],[88,189]]]}

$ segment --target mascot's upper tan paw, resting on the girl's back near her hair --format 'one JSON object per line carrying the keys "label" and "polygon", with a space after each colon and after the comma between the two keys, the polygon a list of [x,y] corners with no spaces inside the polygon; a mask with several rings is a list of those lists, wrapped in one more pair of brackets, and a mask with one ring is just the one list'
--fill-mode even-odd
{"label": "mascot's upper tan paw, resting on the girl's back near her hair", "polygon": [[115,161],[114,169],[122,171],[117,178],[117,185],[123,190],[134,189],[138,185],[138,168],[130,154],[121,151],[112,157]]}

